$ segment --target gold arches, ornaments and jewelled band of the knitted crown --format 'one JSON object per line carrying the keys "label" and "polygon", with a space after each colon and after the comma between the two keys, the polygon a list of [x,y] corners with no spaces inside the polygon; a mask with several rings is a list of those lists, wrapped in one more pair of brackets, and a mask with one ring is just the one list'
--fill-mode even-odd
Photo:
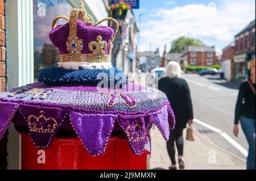
{"label": "gold arches, ornaments and jewelled band of the knitted crown", "polygon": [[[118,33],[118,22],[113,18],[105,18],[98,23],[93,22],[92,16],[88,15],[85,10],[84,3],[80,0],[80,9],[73,9],[69,18],[61,15],[57,16],[52,21],[52,29],[56,27],[56,22],[59,19],[65,19],[69,22],[69,36],[66,41],[68,54],[60,54],[60,62],[109,62],[109,56],[112,53],[113,41]],[[109,40],[108,54],[106,49],[108,43],[102,40],[102,36],[98,35],[95,41],[90,41],[88,48],[92,53],[81,53],[84,49],[84,42],[77,36],[77,20],[82,20],[86,26],[98,26],[106,20],[113,21],[115,24],[114,35]]]}

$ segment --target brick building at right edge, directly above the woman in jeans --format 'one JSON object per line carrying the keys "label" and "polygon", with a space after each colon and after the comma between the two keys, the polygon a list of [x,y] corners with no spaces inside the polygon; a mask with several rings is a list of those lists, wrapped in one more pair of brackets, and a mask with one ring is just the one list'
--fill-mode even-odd
{"label": "brick building at right edge, directly above the woman in jeans", "polygon": [[235,36],[234,73],[236,81],[247,78],[247,61],[255,57],[255,20]]}

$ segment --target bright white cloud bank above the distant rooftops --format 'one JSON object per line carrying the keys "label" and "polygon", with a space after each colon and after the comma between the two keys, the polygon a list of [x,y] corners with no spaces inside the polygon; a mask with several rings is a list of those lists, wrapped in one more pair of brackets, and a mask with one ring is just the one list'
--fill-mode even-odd
{"label": "bright white cloud bank above the distant rooftops", "polygon": [[[209,45],[228,44],[234,35],[255,19],[254,0],[221,0],[220,3],[189,4],[151,12],[142,24],[142,47],[170,45],[179,36],[202,39]],[[218,50],[224,47],[217,47]]]}

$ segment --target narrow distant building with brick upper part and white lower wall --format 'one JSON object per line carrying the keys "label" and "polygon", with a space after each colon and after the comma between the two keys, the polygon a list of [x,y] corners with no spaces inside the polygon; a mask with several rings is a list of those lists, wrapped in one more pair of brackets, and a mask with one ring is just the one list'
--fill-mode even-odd
{"label": "narrow distant building with brick upper part and white lower wall", "polygon": [[234,42],[229,44],[228,47],[222,49],[221,55],[221,68],[224,71],[224,77],[228,81],[233,81],[234,79]]}

